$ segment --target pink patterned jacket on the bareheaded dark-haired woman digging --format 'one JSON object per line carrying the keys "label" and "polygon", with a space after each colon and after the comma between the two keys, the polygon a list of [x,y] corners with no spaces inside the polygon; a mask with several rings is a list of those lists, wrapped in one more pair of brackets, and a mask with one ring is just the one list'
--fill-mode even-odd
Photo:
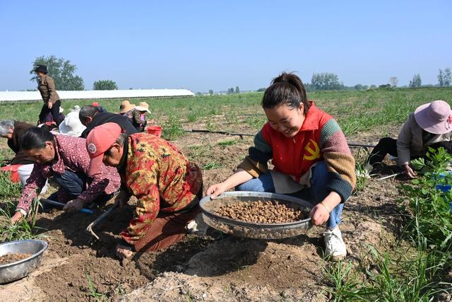
{"label": "pink patterned jacket on the bareheaded dark-haired woman digging", "polygon": [[[90,168],[90,156],[86,151],[85,139],[70,137],[69,135],[56,135],[54,137],[55,152],[57,161],[47,165],[35,163],[30,178],[28,178],[23,188],[17,206],[18,211],[28,213],[32,200],[37,196],[36,189],[44,187],[47,178],[51,178],[54,173],[63,174],[65,170],[88,175]],[[100,173],[88,178],[87,187],[78,198],[91,202],[100,194],[112,194],[119,189],[121,178],[114,167],[102,165]],[[58,191],[59,202],[68,202],[68,198],[63,190]]]}

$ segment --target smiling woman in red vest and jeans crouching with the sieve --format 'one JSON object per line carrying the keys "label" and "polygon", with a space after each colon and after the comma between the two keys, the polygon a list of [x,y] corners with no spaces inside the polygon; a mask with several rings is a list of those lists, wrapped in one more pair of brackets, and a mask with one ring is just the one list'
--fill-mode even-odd
{"label": "smiling woman in red vest and jeans crouching with the sieve", "polygon": [[[347,250],[339,229],[343,203],[355,187],[355,159],[337,122],[307,100],[302,80],[283,73],[263,95],[268,122],[254,138],[254,147],[235,173],[212,185],[216,197],[236,187],[240,191],[276,192],[315,204],[311,221],[328,221],[323,235],[326,255],[339,259]],[[273,170],[267,162],[272,160]]]}

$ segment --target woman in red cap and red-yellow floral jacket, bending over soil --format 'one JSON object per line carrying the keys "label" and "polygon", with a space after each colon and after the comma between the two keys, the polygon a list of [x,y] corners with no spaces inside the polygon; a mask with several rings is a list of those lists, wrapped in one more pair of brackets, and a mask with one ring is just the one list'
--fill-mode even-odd
{"label": "woman in red cap and red-yellow floral jacket, bending over soil", "polygon": [[138,199],[136,214],[121,233],[120,258],[132,251],[166,248],[184,237],[186,224],[199,212],[201,170],[172,144],[148,133],[127,136],[115,123],[91,130],[86,139],[91,158],[88,175],[105,165],[121,175],[121,202]]}

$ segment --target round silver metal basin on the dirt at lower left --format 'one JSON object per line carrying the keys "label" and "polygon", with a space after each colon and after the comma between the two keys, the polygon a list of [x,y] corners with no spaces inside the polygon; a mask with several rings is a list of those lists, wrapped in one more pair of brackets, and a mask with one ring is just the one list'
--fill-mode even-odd
{"label": "round silver metal basin on the dirt at lower left", "polygon": [[0,243],[0,256],[11,254],[31,254],[23,260],[0,265],[0,284],[15,281],[30,274],[40,265],[47,242],[43,240],[17,240]]}

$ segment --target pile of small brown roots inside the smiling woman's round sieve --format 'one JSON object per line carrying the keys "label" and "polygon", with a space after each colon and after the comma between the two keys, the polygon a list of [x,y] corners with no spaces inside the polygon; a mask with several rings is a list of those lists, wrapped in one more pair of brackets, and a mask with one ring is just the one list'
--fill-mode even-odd
{"label": "pile of small brown roots inside the smiling woman's round sieve", "polygon": [[301,209],[275,201],[223,204],[215,210],[215,214],[253,223],[288,223],[307,218],[307,214]]}

